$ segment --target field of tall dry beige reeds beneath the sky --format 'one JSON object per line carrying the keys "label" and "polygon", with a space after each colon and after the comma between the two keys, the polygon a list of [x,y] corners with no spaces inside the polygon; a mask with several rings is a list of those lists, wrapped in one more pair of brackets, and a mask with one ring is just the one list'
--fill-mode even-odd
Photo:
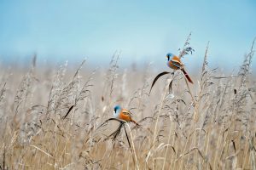
{"label": "field of tall dry beige reeds beneath the sky", "polygon": [[[256,169],[253,46],[233,75],[210,68],[208,48],[194,85],[176,71],[150,95],[152,65],[122,71],[119,52],[108,71],[42,69],[36,57],[2,70],[0,169]],[[124,128],[108,138],[118,122],[98,128],[116,104],[142,125],[125,125],[131,148]]]}

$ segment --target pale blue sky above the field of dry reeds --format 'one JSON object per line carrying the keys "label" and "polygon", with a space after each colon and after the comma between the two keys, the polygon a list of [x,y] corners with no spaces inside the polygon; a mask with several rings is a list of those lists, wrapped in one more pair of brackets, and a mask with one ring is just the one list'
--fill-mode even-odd
{"label": "pale blue sky above the field of dry reeds", "polygon": [[2,62],[34,53],[59,61],[87,57],[107,65],[121,49],[122,65],[166,67],[166,53],[177,54],[192,31],[188,67],[201,67],[210,41],[210,65],[238,68],[256,36],[255,16],[253,0],[0,0],[0,56]]}

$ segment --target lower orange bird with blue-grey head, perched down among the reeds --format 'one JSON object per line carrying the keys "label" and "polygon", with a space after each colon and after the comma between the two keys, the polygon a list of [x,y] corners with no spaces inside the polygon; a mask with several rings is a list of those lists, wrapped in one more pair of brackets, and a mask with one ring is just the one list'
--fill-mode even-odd
{"label": "lower orange bird with blue-grey head, perched down among the reeds", "polygon": [[128,110],[125,110],[123,108],[121,108],[119,105],[116,105],[113,108],[113,116],[115,118],[124,120],[126,122],[133,122],[135,123],[137,126],[140,126],[137,122],[135,122],[132,118],[131,118],[132,113]]}

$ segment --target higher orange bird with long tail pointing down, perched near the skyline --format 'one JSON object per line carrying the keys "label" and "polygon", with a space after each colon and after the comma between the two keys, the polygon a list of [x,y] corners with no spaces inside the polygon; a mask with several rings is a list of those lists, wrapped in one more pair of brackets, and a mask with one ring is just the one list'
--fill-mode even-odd
{"label": "higher orange bird with long tail pointing down, perched near the skyline", "polygon": [[167,65],[172,68],[173,70],[181,70],[183,71],[185,77],[188,79],[189,82],[192,82],[191,78],[189,77],[188,73],[184,70],[184,65],[181,60],[174,54],[166,54],[167,58]]}

